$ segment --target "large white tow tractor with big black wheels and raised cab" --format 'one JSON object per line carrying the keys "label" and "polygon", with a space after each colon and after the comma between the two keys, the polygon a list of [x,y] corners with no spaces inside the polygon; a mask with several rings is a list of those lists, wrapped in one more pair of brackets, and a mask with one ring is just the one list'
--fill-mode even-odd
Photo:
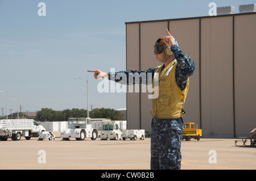
{"label": "large white tow tractor with big black wheels and raised cab", "polygon": [[76,140],[84,140],[91,138],[96,140],[98,137],[98,129],[92,127],[90,117],[74,117],[68,119],[68,129],[63,129],[60,133],[63,140],[76,138]]}

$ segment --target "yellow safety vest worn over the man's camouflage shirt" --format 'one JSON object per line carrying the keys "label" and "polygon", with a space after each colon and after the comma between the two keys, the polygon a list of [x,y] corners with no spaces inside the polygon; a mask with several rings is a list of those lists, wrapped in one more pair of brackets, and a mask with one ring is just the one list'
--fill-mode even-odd
{"label": "yellow safety vest worn over the man's camouflage shirt", "polygon": [[[159,80],[158,98],[152,99],[151,117],[158,119],[175,119],[183,116],[183,107],[188,92],[189,79],[181,91],[175,80],[177,60],[171,61],[163,70],[163,65],[155,68],[152,86]],[[162,71],[161,71],[162,70]],[[155,89],[156,90],[156,89]]]}

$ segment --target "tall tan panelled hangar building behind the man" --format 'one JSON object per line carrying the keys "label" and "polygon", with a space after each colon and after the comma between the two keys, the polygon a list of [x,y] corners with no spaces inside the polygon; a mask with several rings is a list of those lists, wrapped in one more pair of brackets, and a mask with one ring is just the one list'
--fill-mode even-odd
{"label": "tall tan panelled hangar building behind the man", "polygon": [[[256,128],[256,12],[125,24],[127,70],[160,65],[153,45],[166,28],[195,61],[184,122],[196,123],[203,137],[240,137]],[[151,132],[148,94],[127,91],[128,129]]]}

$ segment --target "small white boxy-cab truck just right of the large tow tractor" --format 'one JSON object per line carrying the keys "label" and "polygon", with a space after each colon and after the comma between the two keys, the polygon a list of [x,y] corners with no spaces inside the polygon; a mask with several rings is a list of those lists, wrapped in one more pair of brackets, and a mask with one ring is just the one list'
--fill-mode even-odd
{"label": "small white boxy-cab truck just right of the large tow tractor", "polygon": [[118,140],[122,139],[122,131],[114,121],[102,125],[101,140]]}

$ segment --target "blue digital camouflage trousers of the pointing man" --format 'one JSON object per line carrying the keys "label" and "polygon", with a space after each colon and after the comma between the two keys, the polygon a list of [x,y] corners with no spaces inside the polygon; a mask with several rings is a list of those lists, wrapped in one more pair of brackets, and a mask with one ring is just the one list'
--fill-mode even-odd
{"label": "blue digital camouflage trousers of the pointing man", "polygon": [[152,119],[152,170],[179,170],[181,166],[181,140],[184,131],[182,117],[178,119]]}

